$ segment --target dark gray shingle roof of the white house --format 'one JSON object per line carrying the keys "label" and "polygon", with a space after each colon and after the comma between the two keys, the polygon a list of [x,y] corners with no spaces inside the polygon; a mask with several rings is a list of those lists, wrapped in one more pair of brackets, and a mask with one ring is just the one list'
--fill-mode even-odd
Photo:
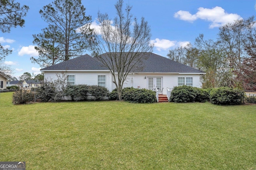
{"label": "dark gray shingle roof of the white house", "polygon": [[[142,53],[141,53],[142,54]],[[106,53],[102,54],[106,55]],[[140,71],[134,72],[163,72],[163,73],[204,73],[201,70],[186,66],[184,64],[178,63],[156,55],[154,53],[146,53],[147,59],[143,60],[143,67]],[[90,55],[82,55],[74,59],[64,61],[62,63],[49,66],[41,69],[45,70],[108,70],[100,61],[96,58],[90,57]]]}

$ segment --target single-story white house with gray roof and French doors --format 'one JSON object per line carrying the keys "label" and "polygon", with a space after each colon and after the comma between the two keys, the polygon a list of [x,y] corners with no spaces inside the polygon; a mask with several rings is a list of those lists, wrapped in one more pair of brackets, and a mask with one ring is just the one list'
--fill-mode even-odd
{"label": "single-story white house with gray roof and French doors", "polygon": [[[103,54],[106,55],[107,53]],[[201,70],[172,61],[154,53],[147,53],[148,58],[143,60],[140,71],[130,72],[124,82],[125,87],[163,89],[167,94],[167,88],[188,85],[202,87]],[[68,61],[41,69],[44,72],[44,80],[57,80],[58,75],[66,74],[68,84],[99,85],[108,88],[111,92],[116,88],[112,82],[113,76],[110,70],[97,58],[90,55],[82,55]]]}

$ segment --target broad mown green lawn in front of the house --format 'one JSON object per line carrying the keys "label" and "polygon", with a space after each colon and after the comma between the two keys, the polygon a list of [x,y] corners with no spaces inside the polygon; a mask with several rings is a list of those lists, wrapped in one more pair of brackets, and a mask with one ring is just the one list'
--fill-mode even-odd
{"label": "broad mown green lawn in front of the house", "polygon": [[256,106],[61,102],[0,94],[0,161],[27,169],[256,169]]}

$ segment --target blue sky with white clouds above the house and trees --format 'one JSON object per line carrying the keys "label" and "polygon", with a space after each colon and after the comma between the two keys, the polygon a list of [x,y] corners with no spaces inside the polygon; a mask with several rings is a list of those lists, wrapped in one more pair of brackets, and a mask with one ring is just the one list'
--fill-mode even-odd
{"label": "blue sky with white clouds above the house and trees", "polygon": [[[12,28],[10,33],[0,32],[0,43],[13,49],[4,61],[14,69],[18,78],[24,72],[39,74],[40,66],[33,64],[30,57],[37,57],[33,34],[41,33],[47,26],[39,10],[53,0],[16,0],[29,6],[24,27]],[[116,0],[82,0],[86,15],[92,16],[92,26],[97,28],[97,13],[116,16]],[[153,53],[166,57],[169,49],[186,43],[194,43],[200,33],[205,39],[216,39],[221,25],[237,19],[256,15],[255,0],[124,0],[132,6],[136,18],[142,16],[151,27]],[[90,54],[90,53],[89,53]]]}

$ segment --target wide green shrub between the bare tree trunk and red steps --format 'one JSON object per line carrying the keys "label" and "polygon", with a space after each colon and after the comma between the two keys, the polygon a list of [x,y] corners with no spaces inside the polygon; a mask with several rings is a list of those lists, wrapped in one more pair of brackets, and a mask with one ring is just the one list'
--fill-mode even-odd
{"label": "wide green shrub between the bare tree trunk and red steps", "polygon": [[157,101],[156,93],[147,89],[124,88],[122,95],[125,101],[131,103],[154,103]]}

